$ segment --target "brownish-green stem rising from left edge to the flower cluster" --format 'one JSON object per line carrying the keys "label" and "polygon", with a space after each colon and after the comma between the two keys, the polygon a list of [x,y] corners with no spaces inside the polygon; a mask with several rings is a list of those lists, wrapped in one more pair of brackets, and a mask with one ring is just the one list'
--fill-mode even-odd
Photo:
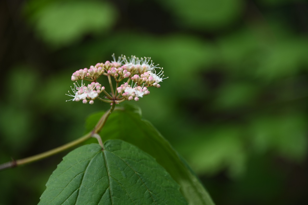
{"label": "brownish-green stem rising from left edge to the flower cluster", "polygon": [[[12,160],[11,162],[3,163],[3,164],[0,165],[0,170],[16,167],[16,166],[23,165],[23,164],[32,163],[32,162],[47,158],[51,155],[58,154],[59,152],[65,151],[65,150],[67,150],[71,147],[74,147],[74,146],[86,141],[87,139],[90,139],[91,137],[97,138],[97,133],[103,128],[103,126],[105,125],[109,115],[111,114],[111,112],[114,109],[115,109],[115,103],[113,103],[111,108],[103,114],[103,116],[99,119],[98,123],[95,125],[94,129],[91,132],[88,132],[87,134],[83,135],[79,139],[76,139],[76,140],[74,140],[70,143],[64,144],[60,147],[54,148],[52,150],[43,152],[43,153],[38,154],[38,155],[34,155],[34,156],[27,157],[27,158],[24,158],[24,159]],[[98,139],[98,142],[102,146],[102,143],[101,143],[101,141],[99,141],[99,139]]]}

